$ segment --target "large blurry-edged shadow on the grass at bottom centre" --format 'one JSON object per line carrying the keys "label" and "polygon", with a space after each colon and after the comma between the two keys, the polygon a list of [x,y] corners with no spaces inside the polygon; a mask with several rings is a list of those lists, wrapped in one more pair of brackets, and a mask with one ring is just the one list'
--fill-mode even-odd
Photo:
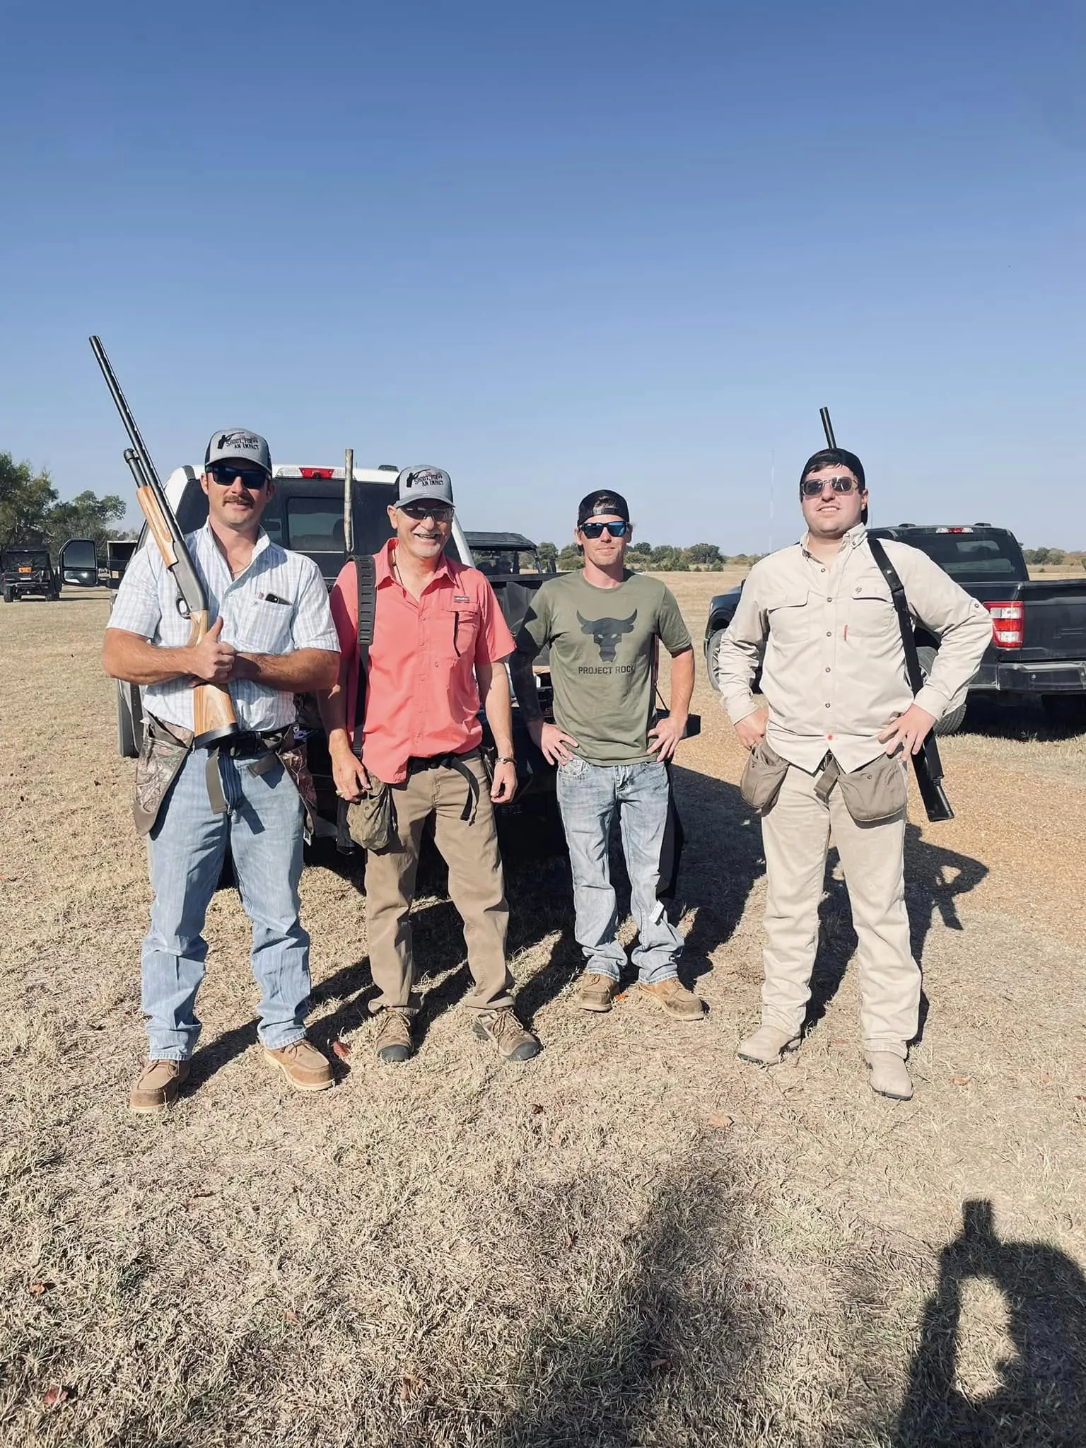
{"label": "large blurry-edged shadow on the grass at bottom centre", "polygon": [[[641,1222],[592,1244],[605,1183],[585,1182],[539,1241],[572,1241],[594,1261],[529,1338],[502,1448],[641,1448],[746,1441],[770,1289],[743,1280],[749,1203],[734,1163],[711,1145],[675,1163]],[[543,1225],[543,1224],[540,1224]],[[546,1268],[544,1268],[546,1270]],[[560,1271],[562,1268],[559,1268]],[[550,1268],[553,1280],[553,1266]],[[552,1289],[553,1290],[553,1289]],[[711,1425],[711,1426],[708,1426]],[[707,1432],[708,1428],[708,1432]],[[710,1434],[714,1436],[710,1438]]]}

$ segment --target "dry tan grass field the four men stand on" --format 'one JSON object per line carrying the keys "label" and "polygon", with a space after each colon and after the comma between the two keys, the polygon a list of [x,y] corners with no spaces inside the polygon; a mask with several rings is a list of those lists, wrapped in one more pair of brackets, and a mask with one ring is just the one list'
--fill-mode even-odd
{"label": "dry tan grass field the four men stand on", "polygon": [[[695,636],[727,575],[670,579]],[[909,827],[917,1096],[875,1098],[831,870],[812,1025],[741,1066],[763,864],[702,682],[681,1027],[573,1005],[568,867],[511,830],[537,1061],[469,1032],[429,870],[424,1041],[379,1067],[363,899],[307,869],[321,1096],[256,1043],[246,921],[210,912],[201,1048],[130,1116],[143,849],[104,594],[0,610],[0,1442],[49,1448],[1086,1444],[1086,740],[998,715],[944,746],[957,818]]]}

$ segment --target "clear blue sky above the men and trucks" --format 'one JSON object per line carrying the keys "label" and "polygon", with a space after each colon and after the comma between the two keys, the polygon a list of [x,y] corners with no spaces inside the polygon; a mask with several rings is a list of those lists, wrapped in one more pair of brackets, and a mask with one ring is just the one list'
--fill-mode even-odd
{"label": "clear blue sky above the men and trucks", "polygon": [[436,462],[468,527],[798,536],[830,404],[873,518],[1086,544],[1072,3],[0,3],[0,450]]}

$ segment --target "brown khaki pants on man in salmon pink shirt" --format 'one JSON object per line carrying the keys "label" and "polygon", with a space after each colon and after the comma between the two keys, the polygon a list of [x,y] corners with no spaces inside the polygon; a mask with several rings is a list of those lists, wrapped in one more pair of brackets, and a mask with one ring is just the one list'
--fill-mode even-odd
{"label": "brown khaki pants on man in salmon pink shirt", "polygon": [[462,818],[468,780],[446,765],[418,769],[392,785],[398,844],[366,856],[366,934],[369,969],[381,995],[371,1009],[414,1009],[411,904],[418,872],[423,827],[434,815],[437,849],[449,866],[449,895],[463,921],[468,966],[475,990],[465,1002],[473,1011],[513,1003],[513,976],[505,966],[510,908],[498,854],[491,786],[478,750],[462,756],[479,785],[473,821]]}

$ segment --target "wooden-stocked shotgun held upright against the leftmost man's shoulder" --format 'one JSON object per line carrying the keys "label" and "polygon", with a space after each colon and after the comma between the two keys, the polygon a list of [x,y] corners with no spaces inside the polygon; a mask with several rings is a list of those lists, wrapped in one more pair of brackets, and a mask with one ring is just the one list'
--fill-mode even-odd
{"label": "wooden-stocked shotgun held upright against the leftmost man's shoulder", "polygon": [[[162,555],[162,562],[174,575],[178,595],[193,624],[193,633],[188,637],[188,646],[191,647],[200,643],[211,627],[211,620],[207,617],[207,589],[195,571],[193,556],[185,546],[184,533],[174,517],[174,510],[169,507],[165,488],[155,472],[155,465],[151,460],[151,453],[146,449],[139,427],[136,427],[136,418],[132,416],[129,404],[125,401],[125,394],[120,391],[120,384],[110,366],[110,359],[106,356],[106,349],[97,337],[91,337],[90,345],[94,359],[101,368],[101,375],[106,378],[110,397],[120,413],[125,430],[132,439],[132,446],[125,449],[125,462],[135,479],[136,498],[143,510],[143,517],[148,520],[151,534]],[[193,711],[194,743],[197,749],[207,749],[240,733],[230,691],[224,683],[197,682],[193,688]]]}

